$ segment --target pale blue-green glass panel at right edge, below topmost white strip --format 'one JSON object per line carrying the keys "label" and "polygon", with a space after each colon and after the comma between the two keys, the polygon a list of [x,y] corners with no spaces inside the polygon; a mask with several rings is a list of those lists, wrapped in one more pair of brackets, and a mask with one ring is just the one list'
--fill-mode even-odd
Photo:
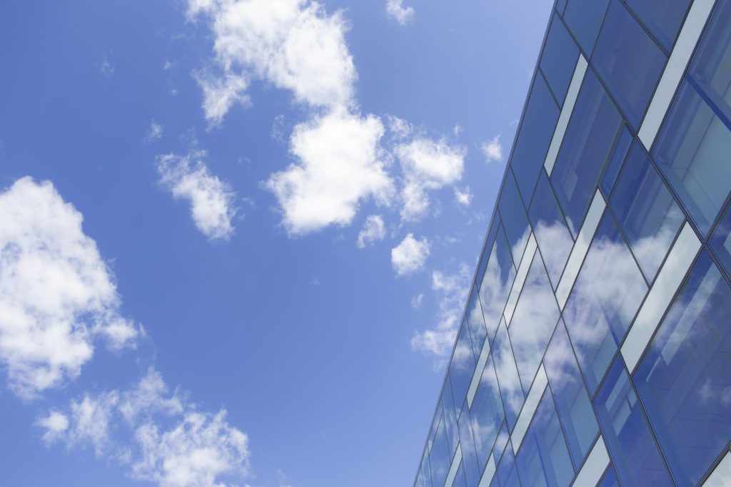
{"label": "pale blue-green glass panel at right edge, below topmost white strip", "polygon": [[731,131],[683,83],[652,152],[662,174],[705,235],[731,190]]}

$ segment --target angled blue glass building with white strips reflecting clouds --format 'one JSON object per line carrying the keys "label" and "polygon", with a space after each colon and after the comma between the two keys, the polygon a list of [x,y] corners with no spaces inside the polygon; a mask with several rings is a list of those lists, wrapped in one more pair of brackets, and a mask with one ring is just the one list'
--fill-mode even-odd
{"label": "angled blue glass building with white strips reflecting clouds", "polygon": [[731,486],[731,0],[557,0],[414,486]]}

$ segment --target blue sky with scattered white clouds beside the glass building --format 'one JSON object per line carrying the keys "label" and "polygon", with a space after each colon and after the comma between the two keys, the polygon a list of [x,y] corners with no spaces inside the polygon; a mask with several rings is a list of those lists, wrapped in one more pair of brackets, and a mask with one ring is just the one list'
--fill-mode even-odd
{"label": "blue sky with scattered white clouds beside the glass building", "polygon": [[9,486],[409,486],[546,0],[0,4]]}

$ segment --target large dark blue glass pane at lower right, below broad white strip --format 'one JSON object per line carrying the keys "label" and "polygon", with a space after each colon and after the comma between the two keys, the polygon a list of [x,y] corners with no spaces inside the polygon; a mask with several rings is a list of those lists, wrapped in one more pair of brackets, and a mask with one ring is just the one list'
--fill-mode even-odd
{"label": "large dark blue glass pane at lower right, below broad white strip", "polygon": [[731,288],[708,253],[660,325],[635,385],[678,486],[731,439]]}

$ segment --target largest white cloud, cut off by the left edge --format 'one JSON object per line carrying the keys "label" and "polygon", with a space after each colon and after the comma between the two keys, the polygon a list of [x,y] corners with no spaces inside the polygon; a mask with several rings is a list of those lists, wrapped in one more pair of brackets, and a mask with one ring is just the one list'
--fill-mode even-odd
{"label": "largest white cloud, cut off by the left edge", "polygon": [[0,193],[0,215],[0,361],[15,394],[75,379],[98,337],[135,345],[112,272],[53,184],[16,181]]}

